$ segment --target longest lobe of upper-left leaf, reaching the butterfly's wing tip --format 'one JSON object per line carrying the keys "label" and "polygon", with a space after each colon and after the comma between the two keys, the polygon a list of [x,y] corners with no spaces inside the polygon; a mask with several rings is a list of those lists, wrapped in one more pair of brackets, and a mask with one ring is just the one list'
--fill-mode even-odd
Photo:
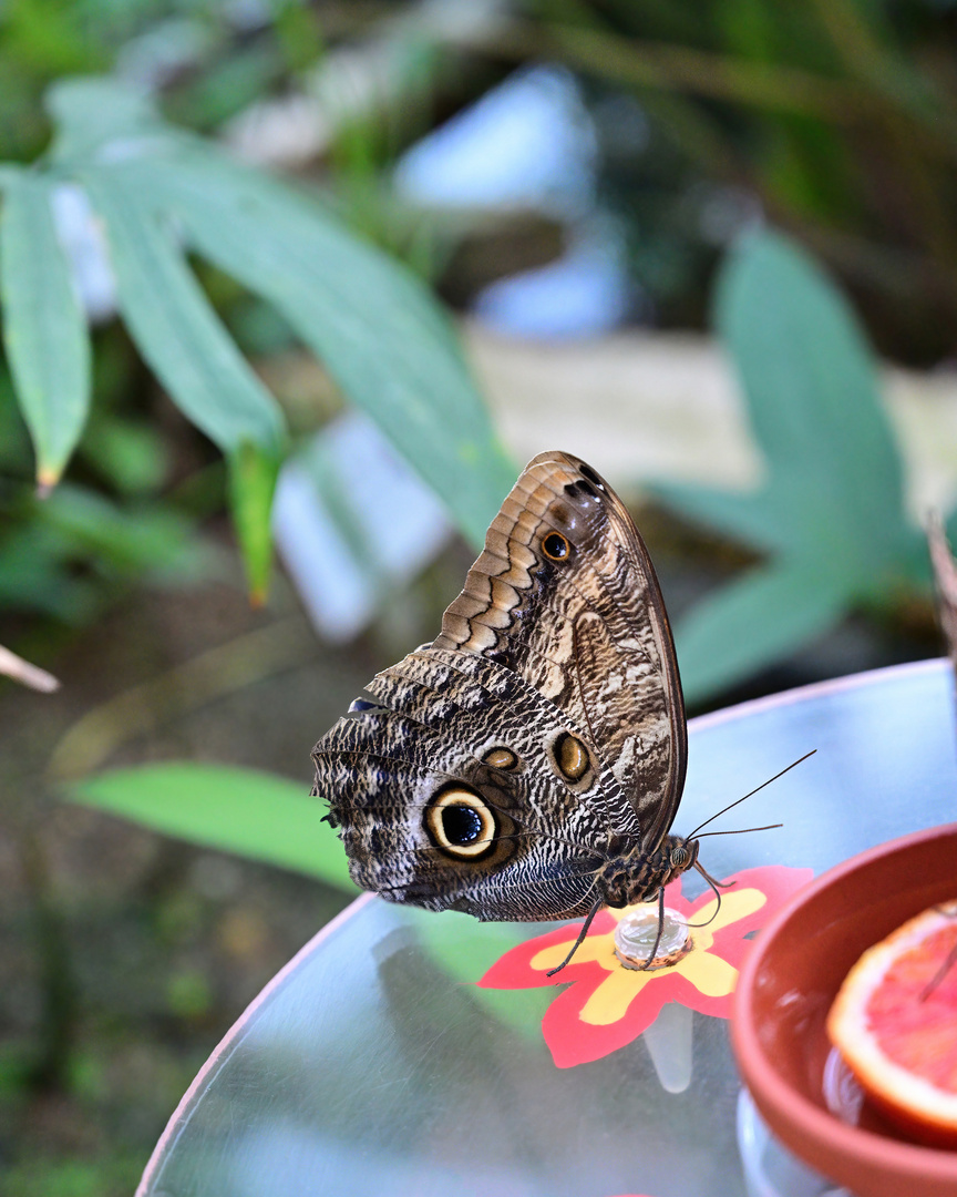
{"label": "longest lobe of upper-left leaf, reaching the butterfly's wing tip", "polygon": [[126,163],[130,193],[276,306],[481,545],[517,470],[428,291],[318,206],[183,145],[175,160]]}

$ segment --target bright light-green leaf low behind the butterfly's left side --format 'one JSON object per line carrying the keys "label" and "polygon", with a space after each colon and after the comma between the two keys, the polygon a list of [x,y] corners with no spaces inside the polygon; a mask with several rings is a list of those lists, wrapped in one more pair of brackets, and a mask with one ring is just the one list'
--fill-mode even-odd
{"label": "bright light-green leaf low behind the butterfly's left side", "polygon": [[324,803],[284,777],[176,761],[86,778],[71,785],[66,797],[191,844],[355,892],[345,849],[322,821]]}

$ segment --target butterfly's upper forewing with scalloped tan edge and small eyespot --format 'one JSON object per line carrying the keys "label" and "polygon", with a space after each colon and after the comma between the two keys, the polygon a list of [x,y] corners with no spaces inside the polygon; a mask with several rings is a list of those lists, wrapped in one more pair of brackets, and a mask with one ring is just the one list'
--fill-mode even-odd
{"label": "butterfly's upper forewing with scalloped tan edge and small eyespot", "polygon": [[[549,533],[568,540],[567,560],[543,552]],[[529,462],[434,643],[507,664],[585,728],[642,846],[658,846],[688,755],[677,660],[645,542],[591,467],[557,451]]]}

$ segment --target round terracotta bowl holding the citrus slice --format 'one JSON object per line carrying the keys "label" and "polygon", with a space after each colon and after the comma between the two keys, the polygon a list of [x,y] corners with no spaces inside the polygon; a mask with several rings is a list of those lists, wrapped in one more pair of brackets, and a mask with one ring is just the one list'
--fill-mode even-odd
{"label": "round terracotta bowl holding the citrus slice", "polygon": [[732,1043],[762,1118],[796,1155],[858,1197],[955,1197],[957,1150],[909,1142],[866,1105],[830,1113],[824,1031],[860,954],[957,897],[957,824],[871,849],[824,873],[764,928],[742,968]]}

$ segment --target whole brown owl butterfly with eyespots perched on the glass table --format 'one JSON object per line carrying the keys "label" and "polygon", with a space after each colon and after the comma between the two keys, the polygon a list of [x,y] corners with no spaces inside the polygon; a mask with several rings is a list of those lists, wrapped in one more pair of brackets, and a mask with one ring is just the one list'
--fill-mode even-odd
{"label": "whole brown owl butterfly with eyespots perched on the glass table", "polygon": [[312,753],[362,888],[480,919],[586,915],[580,943],[603,906],[707,877],[697,840],[669,834],[687,728],[658,579],[578,457],[528,464],[441,633],[367,695]]}

